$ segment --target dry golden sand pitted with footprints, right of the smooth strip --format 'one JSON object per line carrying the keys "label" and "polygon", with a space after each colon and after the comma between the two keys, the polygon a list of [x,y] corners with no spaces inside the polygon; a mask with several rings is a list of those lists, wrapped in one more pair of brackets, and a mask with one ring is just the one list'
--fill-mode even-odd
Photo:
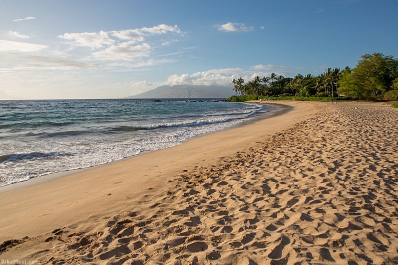
{"label": "dry golden sand pitted with footprints, right of the smooth strip", "polygon": [[398,109],[317,115],[151,189],[126,212],[0,246],[48,263],[398,262]]}

